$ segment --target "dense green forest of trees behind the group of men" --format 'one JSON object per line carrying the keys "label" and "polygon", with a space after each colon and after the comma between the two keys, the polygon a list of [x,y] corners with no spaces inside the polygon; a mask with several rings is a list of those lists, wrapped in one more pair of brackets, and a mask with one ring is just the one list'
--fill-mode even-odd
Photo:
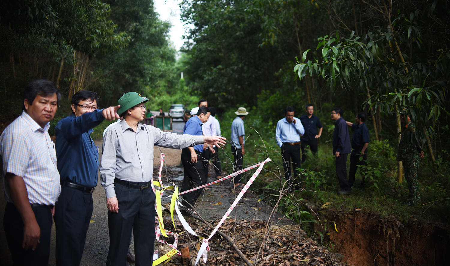
{"label": "dense green forest of trees behind the group of men", "polygon": [[[251,164],[278,151],[275,125],[285,106],[298,117],[313,103],[324,157],[303,167],[325,180],[310,184],[319,190],[334,178],[329,113],[341,107],[349,121],[369,114],[367,170],[378,188],[401,182],[395,150],[405,108],[418,128],[411,141],[426,151],[421,168],[433,173],[428,187],[439,188],[430,200],[448,195],[448,0],[184,0],[182,19],[193,27],[179,58],[152,0],[4,0],[0,7],[2,128],[20,115],[25,85],[39,78],[63,93],[52,124],[69,114],[81,89],[99,92],[100,106],[136,91],[152,110],[206,98],[225,137],[237,107],[250,112]],[[281,165],[280,156],[274,162]]]}

